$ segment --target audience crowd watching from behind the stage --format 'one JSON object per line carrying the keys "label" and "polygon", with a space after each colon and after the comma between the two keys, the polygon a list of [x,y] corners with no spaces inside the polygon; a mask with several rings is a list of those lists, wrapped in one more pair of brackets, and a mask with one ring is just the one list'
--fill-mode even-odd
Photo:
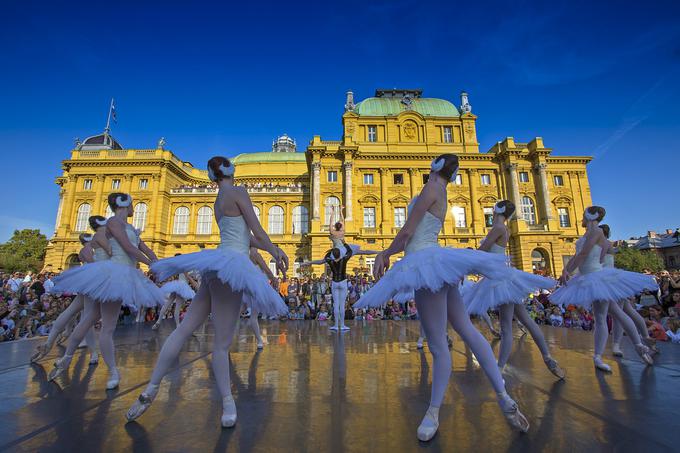
{"label": "audience crowd watching from behind the stage", "polygon": [[[0,342],[43,336],[49,333],[57,316],[71,303],[72,295],[55,294],[54,275],[0,273]],[[634,306],[645,318],[650,335],[660,341],[680,343],[680,272],[662,271],[656,275],[660,290],[637,297]],[[364,321],[418,319],[415,302],[388,302],[378,309],[367,311],[352,306],[373,285],[368,274],[348,279],[348,298],[345,319]],[[331,281],[328,276],[280,278],[278,291],[289,307],[287,317],[276,319],[330,321],[333,317]],[[560,307],[550,303],[549,292],[531,294],[526,301],[530,316],[538,324],[554,327],[591,330],[593,316],[576,305]],[[185,308],[186,310],[186,308]],[[124,307],[120,322],[154,321],[159,309],[133,312]],[[184,311],[180,316],[184,315]],[[245,309],[242,317],[249,317]]]}

